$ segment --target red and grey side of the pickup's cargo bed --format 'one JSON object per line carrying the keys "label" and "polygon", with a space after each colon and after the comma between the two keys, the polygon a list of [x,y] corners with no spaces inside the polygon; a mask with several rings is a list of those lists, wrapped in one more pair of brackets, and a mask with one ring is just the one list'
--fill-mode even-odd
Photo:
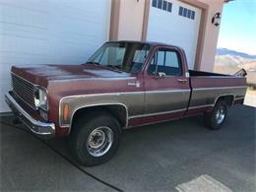
{"label": "red and grey side of the pickup's cargo bed", "polygon": [[233,101],[245,95],[246,79],[244,77],[193,70],[189,70],[189,74],[190,108],[214,106],[220,96],[230,96],[230,100]]}

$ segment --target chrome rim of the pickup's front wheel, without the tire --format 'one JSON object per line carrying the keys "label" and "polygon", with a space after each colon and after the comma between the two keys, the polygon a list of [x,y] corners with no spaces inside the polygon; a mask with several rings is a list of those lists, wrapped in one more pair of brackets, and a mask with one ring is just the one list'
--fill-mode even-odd
{"label": "chrome rim of the pickup's front wheel, without the tire", "polygon": [[87,139],[87,150],[93,157],[105,155],[113,143],[113,131],[106,126],[97,127]]}

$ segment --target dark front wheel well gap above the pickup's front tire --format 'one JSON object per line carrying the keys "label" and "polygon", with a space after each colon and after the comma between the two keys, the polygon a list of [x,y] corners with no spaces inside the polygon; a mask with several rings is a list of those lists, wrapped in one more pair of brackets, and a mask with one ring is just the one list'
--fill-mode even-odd
{"label": "dark front wheel well gap above the pickup's front tire", "polygon": [[128,110],[125,105],[122,104],[107,104],[107,105],[96,105],[96,106],[85,106],[75,111],[72,124],[77,120],[80,115],[90,113],[95,110],[104,110],[110,113],[113,117],[115,117],[120,123],[121,127],[125,127],[127,125],[128,120]]}

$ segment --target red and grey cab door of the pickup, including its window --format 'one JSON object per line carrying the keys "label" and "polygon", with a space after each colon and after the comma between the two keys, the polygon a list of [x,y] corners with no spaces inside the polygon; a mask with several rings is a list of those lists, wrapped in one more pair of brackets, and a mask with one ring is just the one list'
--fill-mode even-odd
{"label": "red and grey cab door of the pickup, including its window", "polygon": [[175,47],[158,47],[145,71],[143,124],[180,118],[190,96],[181,53]]}

